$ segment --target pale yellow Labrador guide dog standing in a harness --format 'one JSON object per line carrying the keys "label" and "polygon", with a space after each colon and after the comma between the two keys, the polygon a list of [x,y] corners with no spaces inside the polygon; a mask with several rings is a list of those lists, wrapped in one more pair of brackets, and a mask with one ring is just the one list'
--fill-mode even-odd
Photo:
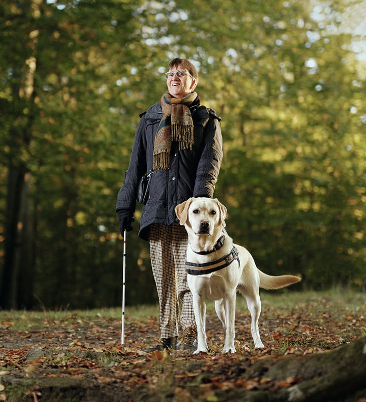
{"label": "pale yellow Labrador guide dog standing in a harness", "polygon": [[301,281],[293,275],[270,276],[261,272],[249,251],[233,243],[224,229],[227,208],[217,198],[190,198],[175,207],[180,225],[188,233],[187,280],[193,295],[197,324],[197,350],[208,352],[205,299],[215,301],[224,327],[224,353],[235,353],[235,305],[239,291],[251,314],[255,348],[263,348],[258,328],[261,313],[259,288],[279,289]]}

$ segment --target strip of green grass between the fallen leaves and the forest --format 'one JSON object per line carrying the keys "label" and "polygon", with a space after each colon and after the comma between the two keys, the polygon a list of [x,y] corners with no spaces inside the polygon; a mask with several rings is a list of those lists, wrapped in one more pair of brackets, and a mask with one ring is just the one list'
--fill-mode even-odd
{"label": "strip of green grass between the fallen leaves and the forest", "polygon": [[[266,309],[280,308],[292,312],[306,305],[316,305],[321,311],[332,311],[336,308],[362,315],[366,307],[366,293],[354,292],[349,289],[333,288],[329,291],[292,292],[285,289],[278,291],[261,291],[262,313]],[[215,304],[207,300],[207,314],[215,315]],[[237,315],[249,315],[246,301],[240,294],[237,297]],[[126,306],[125,320],[148,321],[151,318],[158,319],[159,308],[157,305]],[[43,327],[48,323],[69,324],[81,323],[88,320],[121,319],[121,308],[101,308],[91,310],[44,310],[44,311],[0,311],[0,324],[10,323],[16,331],[29,331],[37,327]]]}

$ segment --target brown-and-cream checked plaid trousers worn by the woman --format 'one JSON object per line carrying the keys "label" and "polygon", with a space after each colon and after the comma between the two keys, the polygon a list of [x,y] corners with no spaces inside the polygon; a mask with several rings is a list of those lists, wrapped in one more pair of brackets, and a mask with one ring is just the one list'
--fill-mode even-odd
{"label": "brown-and-cream checked plaid trousers worn by the woman", "polygon": [[178,322],[183,331],[187,327],[196,329],[185,266],[186,229],[178,222],[172,225],[152,224],[149,243],[152,273],[159,297],[161,338],[178,336]]}

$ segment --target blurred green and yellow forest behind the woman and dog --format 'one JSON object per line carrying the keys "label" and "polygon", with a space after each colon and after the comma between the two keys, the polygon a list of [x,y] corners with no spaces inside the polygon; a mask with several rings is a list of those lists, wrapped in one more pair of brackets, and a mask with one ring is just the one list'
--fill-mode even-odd
{"label": "blurred green and yellow forest behind the woman and dog", "polygon": [[[221,116],[227,229],[294,289],[366,277],[364,2],[4,0],[0,308],[118,306],[115,215],[139,113],[176,56]],[[127,235],[126,303],[155,303]]]}

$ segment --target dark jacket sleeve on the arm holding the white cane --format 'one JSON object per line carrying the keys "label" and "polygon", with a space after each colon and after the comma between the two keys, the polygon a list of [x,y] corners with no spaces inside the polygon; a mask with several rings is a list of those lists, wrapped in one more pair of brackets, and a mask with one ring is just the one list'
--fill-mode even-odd
{"label": "dark jacket sleeve on the arm holding the white cane", "polygon": [[137,184],[146,173],[146,136],[145,118],[142,115],[136,129],[131,159],[125,173],[124,183],[118,192],[116,212],[124,210],[130,214],[135,212]]}

